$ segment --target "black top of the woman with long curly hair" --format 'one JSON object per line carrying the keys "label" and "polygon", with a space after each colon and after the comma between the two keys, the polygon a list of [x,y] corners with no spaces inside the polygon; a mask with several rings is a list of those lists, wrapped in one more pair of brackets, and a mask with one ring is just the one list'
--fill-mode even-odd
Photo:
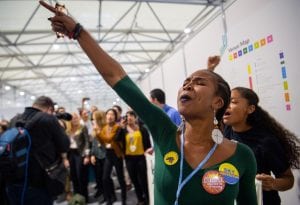
{"label": "black top of the woman with long curly hair", "polygon": [[[245,132],[234,132],[230,126],[225,126],[224,132],[227,138],[242,142],[252,149],[258,174],[272,172],[279,177],[290,167],[279,139],[264,129],[253,127]],[[263,191],[264,205],[279,205],[280,202],[277,191]]]}

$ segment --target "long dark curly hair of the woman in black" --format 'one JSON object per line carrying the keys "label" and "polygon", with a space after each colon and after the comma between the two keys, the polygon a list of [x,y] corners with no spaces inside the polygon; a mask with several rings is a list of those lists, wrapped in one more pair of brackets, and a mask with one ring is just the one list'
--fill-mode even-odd
{"label": "long dark curly hair of the woman in black", "polygon": [[239,92],[249,105],[255,106],[255,111],[247,117],[247,124],[252,127],[259,126],[277,137],[283,146],[290,167],[300,168],[299,138],[258,105],[259,98],[253,90],[245,87],[236,87],[232,90]]}

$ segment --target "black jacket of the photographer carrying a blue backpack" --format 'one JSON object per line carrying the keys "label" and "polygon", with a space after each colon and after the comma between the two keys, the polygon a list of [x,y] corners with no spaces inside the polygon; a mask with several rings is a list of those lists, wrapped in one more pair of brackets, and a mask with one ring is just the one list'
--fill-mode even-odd
{"label": "black jacket of the photographer carrying a blue backpack", "polygon": [[[28,129],[32,143],[29,157],[28,183],[32,187],[44,188],[46,186],[46,172],[41,168],[34,155],[37,155],[46,166],[49,166],[60,157],[61,153],[69,150],[70,141],[54,115],[41,113],[38,109],[27,107],[24,113],[18,115],[17,118],[25,121],[30,120],[38,112],[40,112],[39,117],[34,120],[34,123]],[[18,122],[18,119],[14,119],[13,122]],[[11,126],[15,126],[15,124],[11,124]]]}

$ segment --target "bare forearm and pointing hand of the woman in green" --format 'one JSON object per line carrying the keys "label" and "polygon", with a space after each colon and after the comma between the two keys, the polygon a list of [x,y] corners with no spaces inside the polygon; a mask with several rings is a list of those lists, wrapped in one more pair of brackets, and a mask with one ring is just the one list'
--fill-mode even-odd
{"label": "bare forearm and pointing hand of the woman in green", "polygon": [[[76,21],[72,17],[57,11],[53,6],[44,1],[40,1],[40,4],[55,13],[54,17],[49,18],[52,22],[53,31],[70,36],[75,29]],[[110,86],[114,86],[126,76],[126,72],[122,66],[110,57],[84,28],[80,31],[77,40],[98,72]]]}

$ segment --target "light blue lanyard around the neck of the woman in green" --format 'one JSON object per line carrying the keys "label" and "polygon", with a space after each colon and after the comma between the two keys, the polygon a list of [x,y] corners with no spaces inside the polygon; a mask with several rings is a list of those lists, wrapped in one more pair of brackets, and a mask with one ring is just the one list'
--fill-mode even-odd
{"label": "light blue lanyard around the neck of the woman in green", "polygon": [[181,146],[180,146],[180,173],[179,173],[179,180],[178,180],[178,188],[177,188],[177,192],[176,192],[176,201],[175,201],[174,205],[178,205],[178,199],[179,199],[179,196],[180,196],[180,192],[181,192],[182,188],[184,187],[184,185],[186,185],[186,183],[188,181],[190,181],[191,178],[203,167],[203,165],[209,160],[209,158],[213,155],[213,153],[215,152],[215,150],[217,148],[217,144],[215,143],[214,146],[210,149],[210,151],[206,155],[206,157],[198,164],[196,169],[194,169],[192,171],[192,173],[190,173],[182,181],[183,158],[184,158],[184,150],[183,150],[184,149],[184,131],[185,131],[185,127],[183,126],[181,136],[180,136],[180,141],[181,141]]}

